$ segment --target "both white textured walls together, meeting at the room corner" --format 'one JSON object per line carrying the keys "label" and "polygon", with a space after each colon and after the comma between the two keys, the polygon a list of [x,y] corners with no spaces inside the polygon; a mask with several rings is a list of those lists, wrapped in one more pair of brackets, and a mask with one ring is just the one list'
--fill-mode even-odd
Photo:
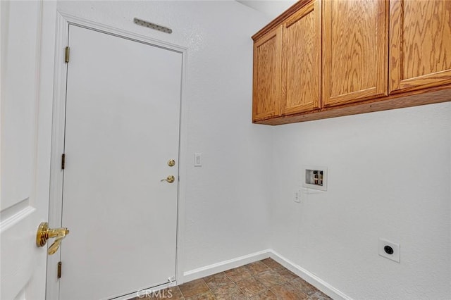
{"label": "both white textured walls together, meeting at the room corner", "polygon": [[[449,298],[451,104],[252,125],[250,36],[264,15],[235,1],[58,9],[188,48],[184,271],[272,247],[354,299]],[[304,164],[329,168],[328,192],[295,204]],[[379,237],[401,244],[401,263],[378,256]]]}

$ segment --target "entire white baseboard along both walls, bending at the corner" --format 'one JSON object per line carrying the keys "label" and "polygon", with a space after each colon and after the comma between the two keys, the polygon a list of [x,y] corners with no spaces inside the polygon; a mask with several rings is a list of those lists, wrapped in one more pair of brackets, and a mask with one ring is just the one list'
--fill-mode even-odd
{"label": "entire white baseboard along both walls, bending at the corner", "polygon": [[261,261],[262,259],[268,257],[273,258],[274,261],[277,261],[278,263],[280,263],[280,265],[283,265],[285,268],[292,271],[292,273],[295,273],[303,280],[309,282],[311,285],[314,285],[314,287],[327,294],[331,298],[352,300],[352,298],[350,298],[346,294],[343,294],[338,289],[335,289],[335,287],[332,287],[327,282],[321,280],[321,278],[317,277],[313,273],[310,273],[308,270],[301,268],[299,265],[293,263],[288,258],[285,258],[284,256],[278,254],[273,249],[266,249],[264,251],[247,254],[245,256],[229,259],[228,261],[221,261],[220,263],[214,263],[212,265],[206,265],[202,268],[184,272],[183,278],[179,278],[177,284],[180,285],[184,282],[196,280],[216,273],[221,273],[225,270],[237,268],[241,265],[246,265],[247,263],[253,263],[254,261]]}

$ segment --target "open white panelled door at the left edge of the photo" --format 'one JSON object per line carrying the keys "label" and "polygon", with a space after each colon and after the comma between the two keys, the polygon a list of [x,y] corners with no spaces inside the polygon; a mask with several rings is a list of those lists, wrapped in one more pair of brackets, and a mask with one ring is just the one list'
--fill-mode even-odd
{"label": "open white panelled door at the left edge of the photo", "polygon": [[0,299],[44,299],[56,4],[0,1]]}

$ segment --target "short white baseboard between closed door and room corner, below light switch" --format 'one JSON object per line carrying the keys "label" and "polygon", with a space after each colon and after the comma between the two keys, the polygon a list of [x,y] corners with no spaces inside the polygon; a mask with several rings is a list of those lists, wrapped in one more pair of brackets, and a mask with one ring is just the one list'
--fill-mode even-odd
{"label": "short white baseboard between closed door and room corner, below light switch", "polygon": [[221,273],[226,270],[246,265],[247,263],[253,263],[254,261],[261,261],[264,258],[271,256],[271,249],[254,252],[245,256],[229,259],[228,261],[221,261],[220,263],[214,263],[212,265],[206,265],[202,268],[197,268],[183,273],[182,280],[178,279],[178,285],[183,282],[188,282],[205,276]]}

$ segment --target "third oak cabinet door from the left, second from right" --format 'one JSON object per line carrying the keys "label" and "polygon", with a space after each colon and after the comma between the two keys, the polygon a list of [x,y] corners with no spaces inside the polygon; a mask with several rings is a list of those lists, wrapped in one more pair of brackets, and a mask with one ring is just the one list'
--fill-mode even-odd
{"label": "third oak cabinet door from the left, second from right", "polygon": [[388,94],[388,1],[323,2],[323,104]]}

